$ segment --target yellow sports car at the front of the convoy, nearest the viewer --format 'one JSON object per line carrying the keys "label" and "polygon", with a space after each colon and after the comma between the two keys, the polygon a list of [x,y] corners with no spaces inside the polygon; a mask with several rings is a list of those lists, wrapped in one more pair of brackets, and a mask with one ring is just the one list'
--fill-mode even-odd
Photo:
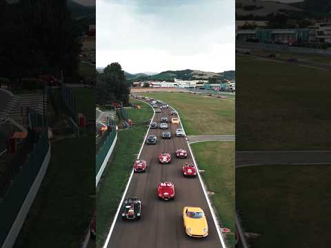
{"label": "yellow sports car at the front of the convoy, nearest the viewer", "polygon": [[202,238],[208,236],[208,224],[205,213],[200,207],[184,207],[183,222],[188,236]]}

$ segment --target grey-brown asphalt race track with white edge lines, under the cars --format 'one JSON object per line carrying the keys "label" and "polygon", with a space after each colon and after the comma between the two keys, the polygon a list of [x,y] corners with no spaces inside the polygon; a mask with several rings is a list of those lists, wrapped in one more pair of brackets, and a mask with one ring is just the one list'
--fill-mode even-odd
{"label": "grey-brown asphalt race track with white edge lines, under the cars", "polygon": [[[171,122],[171,118],[177,117],[170,114],[172,110],[168,107],[162,109],[161,113],[154,112],[152,121],[159,124],[161,117],[165,116]],[[183,176],[183,164],[189,162],[196,165],[196,163],[187,139],[176,136],[176,130],[181,127],[181,122],[180,124],[170,122],[168,122],[168,130],[161,130],[159,127],[148,129],[147,135],[156,135],[158,142],[156,145],[146,145],[145,138],[139,152],[138,158],[147,162],[147,172],[133,173],[132,170],[103,248],[225,247],[224,238],[203,188],[199,171],[193,178]],[[171,132],[170,139],[162,138],[164,131]],[[185,149],[188,157],[177,158],[175,154],[177,149]],[[171,154],[170,164],[159,162],[159,154],[165,152]],[[159,200],[157,185],[163,181],[174,183],[174,200]],[[123,220],[121,217],[123,200],[134,196],[141,198],[141,220]],[[208,222],[208,236],[193,238],[185,234],[182,214],[185,206],[203,209]]]}

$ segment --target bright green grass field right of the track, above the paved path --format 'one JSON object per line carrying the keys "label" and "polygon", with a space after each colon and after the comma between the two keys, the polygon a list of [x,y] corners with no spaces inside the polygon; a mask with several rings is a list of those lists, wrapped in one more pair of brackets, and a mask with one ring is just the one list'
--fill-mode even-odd
{"label": "bright green grass field right of the track, above the paved path", "polygon": [[188,135],[234,134],[234,101],[187,93],[145,93],[174,107]]}

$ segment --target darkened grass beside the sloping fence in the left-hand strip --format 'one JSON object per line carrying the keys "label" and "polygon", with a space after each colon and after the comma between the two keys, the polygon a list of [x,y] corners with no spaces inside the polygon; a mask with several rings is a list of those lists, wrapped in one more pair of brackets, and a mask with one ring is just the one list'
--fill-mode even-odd
{"label": "darkened grass beside the sloping fence in the left-hand strip", "polygon": [[90,152],[94,137],[54,141],[51,151],[48,171],[15,248],[77,248],[87,234],[95,207],[95,158]]}

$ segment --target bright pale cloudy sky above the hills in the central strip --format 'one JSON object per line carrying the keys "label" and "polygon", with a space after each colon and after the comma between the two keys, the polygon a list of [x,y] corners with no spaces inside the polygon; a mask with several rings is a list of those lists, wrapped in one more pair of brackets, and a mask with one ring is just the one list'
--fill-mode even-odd
{"label": "bright pale cloudy sky above the hills in the central strip", "polygon": [[97,0],[97,67],[234,70],[234,0]]}

